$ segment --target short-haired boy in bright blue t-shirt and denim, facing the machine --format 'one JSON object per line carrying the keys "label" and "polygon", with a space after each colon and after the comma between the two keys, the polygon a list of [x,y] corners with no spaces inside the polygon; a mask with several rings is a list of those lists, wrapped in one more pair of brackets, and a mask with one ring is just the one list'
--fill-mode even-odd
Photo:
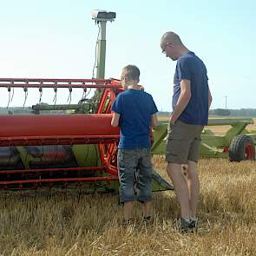
{"label": "short-haired boy in bright blue t-shirt and denim, facing the machine", "polygon": [[[121,71],[121,86],[111,108],[113,127],[120,126],[118,145],[118,174],[120,198],[124,203],[124,219],[131,219],[133,201],[143,203],[144,220],[150,220],[152,200],[152,162],[150,154],[150,127],[157,125],[158,112],[153,97],[144,92],[140,82],[140,69],[128,65]],[[136,173],[137,171],[137,173]],[[136,185],[135,185],[136,184]]]}

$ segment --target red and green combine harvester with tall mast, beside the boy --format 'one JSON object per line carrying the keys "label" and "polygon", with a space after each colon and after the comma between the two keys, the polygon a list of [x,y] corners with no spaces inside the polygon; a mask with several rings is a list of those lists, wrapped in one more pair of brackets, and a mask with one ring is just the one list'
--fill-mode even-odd
{"label": "red and green combine harvester with tall mast, beside the boy", "polygon": [[[106,23],[115,13],[94,11],[93,19],[101,26],[97,79],[0,78],[0,88],[9,92],[8,105],[16,88],[25,96],[38,89],[39,102],[47,88],[54,89],[55,99],[58,89],[69,89],[70,99],[73,89],[83,90],[78,104],[39,103],[30,115],[0,115],[0,190],[75,187],[85,193],[118,193],[119,128],[110,125],[110,108],[122,89],[120,81],[104,79]],[[167,189],[173,187],[154,171],[153,190]]]}

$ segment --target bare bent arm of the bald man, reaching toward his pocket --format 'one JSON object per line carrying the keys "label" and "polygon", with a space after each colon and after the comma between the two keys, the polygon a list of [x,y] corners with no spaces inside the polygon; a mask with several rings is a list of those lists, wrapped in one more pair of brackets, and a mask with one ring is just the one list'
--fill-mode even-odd
{"label": "bare bent arm of the bald man, reaching toward his pocket", "polygon": [[191,86],[190,86],[190,80],[182,79],[181,80],[181,95],[178,99],[178,102],[176,104],[176,107],[174,109],[173,114],[170,117],[170,121],[174,123],[177,121],[181,113],[184,111],[184,109],[187,107],[188,102],[191,98]]}

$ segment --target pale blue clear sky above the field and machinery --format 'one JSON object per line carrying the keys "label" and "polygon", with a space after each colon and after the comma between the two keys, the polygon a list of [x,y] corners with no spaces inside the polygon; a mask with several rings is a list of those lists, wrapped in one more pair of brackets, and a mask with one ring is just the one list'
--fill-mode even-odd
{"label": "pale blue clear sky above the field and machinery", "polygon": [[[109,10],[116,19],[107,25],[107,78],[135,64],[159,110],[171,110],[176,63],[161,54],[160,38],[172,30],[207,65],[212,108],[225,108],[226,95],[228,108],[256,108],[253,0],[0,0],[0,9],[0,77],[91,78],[98,29],[90,11]],[[53,97],[49,90],[43,102]],[[38,98],[30,91],[26,106]],[[0,99],[6,106],[7,89],[0,89]],[[10,105],[23,105],[22,90]]]}

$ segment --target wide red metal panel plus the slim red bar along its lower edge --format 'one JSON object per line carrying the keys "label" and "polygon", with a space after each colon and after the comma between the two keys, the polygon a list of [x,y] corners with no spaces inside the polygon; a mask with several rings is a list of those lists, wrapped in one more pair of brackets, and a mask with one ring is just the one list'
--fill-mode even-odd
{"label": "wide red metal panel plus the slim red bar along its lower edge", "polygon": [[74,145],[113,142],[112,115],[0,115],[0,146]]}

